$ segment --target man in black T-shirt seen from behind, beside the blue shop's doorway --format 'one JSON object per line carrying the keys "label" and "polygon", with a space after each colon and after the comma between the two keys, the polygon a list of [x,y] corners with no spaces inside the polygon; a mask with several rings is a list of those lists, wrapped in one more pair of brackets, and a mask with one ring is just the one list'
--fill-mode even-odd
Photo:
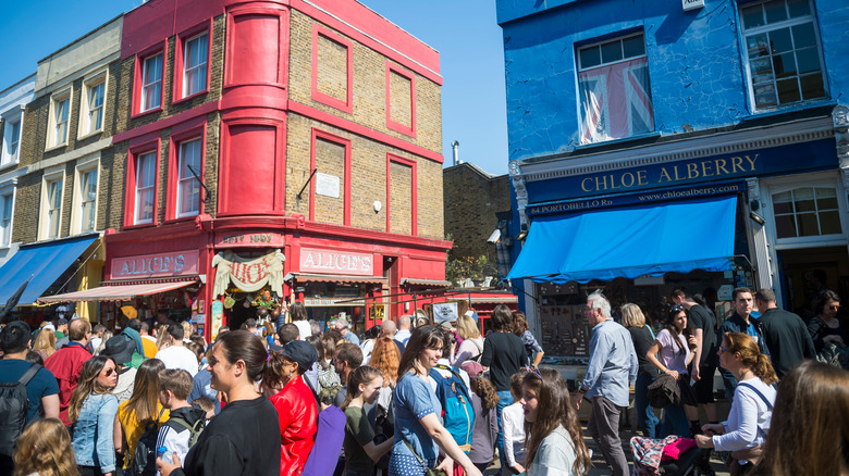
{"label": "man in black T-shirt seen from behind, beside the blue shop's doorway", "polygon": [[763,340],[770,349],[778,378],[787,375],[804,359],[816,359],[813,340],[804,322],[798,315],[778,308],[772,289],[759,289],[754,300],[761,311]]}

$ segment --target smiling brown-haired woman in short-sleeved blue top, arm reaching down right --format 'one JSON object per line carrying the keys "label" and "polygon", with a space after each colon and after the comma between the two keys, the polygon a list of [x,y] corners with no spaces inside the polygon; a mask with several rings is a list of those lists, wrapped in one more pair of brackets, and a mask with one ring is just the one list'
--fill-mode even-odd
{"label": "smiling brown-haired woman in short-sleeved blue top, arm reaching down right", "polygon": [[428,378],[442,356],[445,338],[439,327],[416,327],[401,356],[390,476],[424,475],[428,468],[436,467],[440,450],[447,456],[440,468],[452,472],[456,461],[469,476],[482,476],[442,425],[441,403]]}

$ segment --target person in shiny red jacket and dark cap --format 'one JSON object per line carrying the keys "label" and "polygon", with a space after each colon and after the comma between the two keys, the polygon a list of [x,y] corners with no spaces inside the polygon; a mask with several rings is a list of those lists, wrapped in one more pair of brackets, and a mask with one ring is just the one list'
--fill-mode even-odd
{"label": "person in shiny red jacket and dark cap", "polygon": [[280,419],[280,474],[299,475],[312,450],[318,429],[316,394],[304,381],[304,374],[318,361],[318,352],[310,343],[293,340],[280,352],[271,352],[262,385]]}

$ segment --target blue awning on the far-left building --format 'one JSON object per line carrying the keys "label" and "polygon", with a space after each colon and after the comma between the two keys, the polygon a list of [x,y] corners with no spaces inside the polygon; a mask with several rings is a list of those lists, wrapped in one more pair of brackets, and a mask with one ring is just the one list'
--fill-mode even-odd
{"label": "blue awning on the far-left building", "polygon": [[0,308],[5,305],[9,298],[27,279],[29,284],[21,295],[17,305],[34,303],[98,237],[99,235],[94,234],[21,246],[3,267],[0,267]]}

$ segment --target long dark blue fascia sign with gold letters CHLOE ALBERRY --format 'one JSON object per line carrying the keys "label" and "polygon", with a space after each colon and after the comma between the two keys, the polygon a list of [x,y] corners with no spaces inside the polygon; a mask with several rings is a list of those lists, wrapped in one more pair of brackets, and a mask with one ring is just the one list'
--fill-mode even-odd
{"label": "long dark blue fascia sign with gold letters CHLOE ALBERRY", "polygon": [[534,202],[756,177],[795,171],[836,168],[834,139],[664,162],[642,167],[573,175],[527,184]]}

